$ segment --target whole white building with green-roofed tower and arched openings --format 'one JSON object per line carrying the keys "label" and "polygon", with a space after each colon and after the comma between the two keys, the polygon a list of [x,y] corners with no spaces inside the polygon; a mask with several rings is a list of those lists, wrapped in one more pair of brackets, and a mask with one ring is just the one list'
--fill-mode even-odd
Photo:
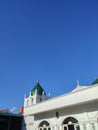
{"label": "whole white building with green-roofed tower and arched openings", "polygon": [[56,98],[37,81],[24,98],[23,130],[98,130],[98,79]]}

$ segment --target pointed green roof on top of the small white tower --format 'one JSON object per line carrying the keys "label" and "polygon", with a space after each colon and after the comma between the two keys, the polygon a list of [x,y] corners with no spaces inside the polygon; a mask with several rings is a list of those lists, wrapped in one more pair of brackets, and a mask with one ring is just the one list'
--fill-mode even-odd
{"label": "pointed green roof on top of the small white tower", "polygon": [[39,81],[37,80],[35,87],[31,90],[31,95],[33,96],[36,92],[38,95],[42,95],[43,91],[44,91],[43,88],[41,87]]}

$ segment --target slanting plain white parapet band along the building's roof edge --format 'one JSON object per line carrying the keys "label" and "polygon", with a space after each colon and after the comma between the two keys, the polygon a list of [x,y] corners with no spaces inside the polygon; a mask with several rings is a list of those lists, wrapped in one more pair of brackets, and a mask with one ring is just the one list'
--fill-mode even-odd
{"label": "slanting plain white parapet band along the building's roof edge", "polygon": [[[63,107],[71,107],[84,102],[98,100],[98,86],[88,87],[78,92],[72,92],[57,98],[53,98],[36,105],[24,108],[24,115],[37,114],[47,112]],[[54,105],[55,104],[55,105]]]}

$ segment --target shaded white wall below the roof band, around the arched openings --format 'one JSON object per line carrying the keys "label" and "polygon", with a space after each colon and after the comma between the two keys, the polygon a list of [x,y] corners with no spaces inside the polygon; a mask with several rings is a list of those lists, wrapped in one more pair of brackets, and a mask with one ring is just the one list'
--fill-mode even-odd
{"label": "shaded white wall below the roof band, around the arched openings", "polygon": [[[56,117],[56,112],[59,113],[59,118]],[[32,125],[32,121],[28,116],[26,116],[25,121],[27,122],[27,130],[38,129],[39,124],[44,120],[48,121],[51,128],[54,128],[54,130],[57,130],[57,128],[61,130],[62,123],[67,117],[76,118],[79,122],[81,130],[83,130],[83,124],[86,124],[87,130],[91,130],[91,123],[94,123],[96,130],[98,130],[98,102],[96,101],[83,105],[77,105],[69,109],[63,108],[48,113],[37,114],[34,118],[31,116],[30,118],[34,119]]]}

